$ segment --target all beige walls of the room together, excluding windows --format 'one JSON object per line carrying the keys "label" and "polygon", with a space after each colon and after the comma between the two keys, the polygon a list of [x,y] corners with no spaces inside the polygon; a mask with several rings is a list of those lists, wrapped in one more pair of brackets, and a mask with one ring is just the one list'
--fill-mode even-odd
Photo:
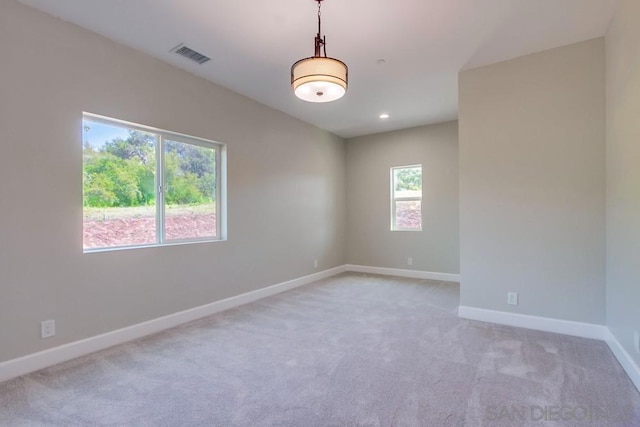
{"label": "all beige walls of the room together, excluding windows", "polygon": [[[300,277],[316,271],[314,259],[319,270],[461,272],[465,306],[592,323],[606,312],[640,362],[639,17],[640,4],[623,0],[606,39],[605,257],[603,39],[462,72],[459,152],[458,122],[353,138],[345,149],[0,2],[0,362]],[[82,111],[227,144],[229,241],[83,254]],[[389,168],[416,163],[424,230],[391,232]],[[507,291],[520,305],[506,304]],[[39,322],[51,318],[57,336],[42,340]]]}

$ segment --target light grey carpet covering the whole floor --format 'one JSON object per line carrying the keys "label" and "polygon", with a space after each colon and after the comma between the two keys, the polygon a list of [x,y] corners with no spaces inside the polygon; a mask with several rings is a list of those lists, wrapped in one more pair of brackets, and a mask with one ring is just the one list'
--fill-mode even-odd
{"label": "light grey carpet covering the whole floor", "polygon": [[640,426],[600,341],[344,274],[0,384],[2,426]]}

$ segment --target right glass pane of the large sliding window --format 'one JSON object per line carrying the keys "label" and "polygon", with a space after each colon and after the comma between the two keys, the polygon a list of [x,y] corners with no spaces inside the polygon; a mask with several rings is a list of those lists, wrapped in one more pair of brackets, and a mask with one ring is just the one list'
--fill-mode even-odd
{"label": "right glass pane of the large sliding window", "polygon": [[165,239],[217,237],[216,150],[165,141]]}

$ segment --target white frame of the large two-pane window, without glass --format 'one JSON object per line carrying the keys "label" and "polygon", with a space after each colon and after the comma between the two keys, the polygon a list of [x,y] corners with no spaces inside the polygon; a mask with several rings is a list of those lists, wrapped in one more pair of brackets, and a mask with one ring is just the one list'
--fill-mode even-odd
{"label": "white frame of the large two-pane window, without glass", "polygon": [[[156,134],[156,242],[139,245],[109,246],[101,248],[83,248],[84,253],[108,252],[114,250],[152,248],[160,246],[176,246],[194,243],[225,242],[227,241],[227,146],[217,141],[186,135],[179,132],[172,132],[152,126],[141,125],[128,122],[126,120],[107,117],[99,114],[82,112],[82,121],[88,120],[95,123],[110,126],[121,126],[141,132]],[[82,128],[82,126],[80,127]],[[81,138],[82,139],[82,138]],[[216,152],[216,236],[215,237],[194,237],[184,239],[166,239],[165,236],[165,202],[164,202],[164,141],[182,142],[200,147],[214,149]],[[84,169],[84,165],[83,165]],[[161,177],[161,181],[158,179]],[[83,196],[84,198],[84,196]]]}

